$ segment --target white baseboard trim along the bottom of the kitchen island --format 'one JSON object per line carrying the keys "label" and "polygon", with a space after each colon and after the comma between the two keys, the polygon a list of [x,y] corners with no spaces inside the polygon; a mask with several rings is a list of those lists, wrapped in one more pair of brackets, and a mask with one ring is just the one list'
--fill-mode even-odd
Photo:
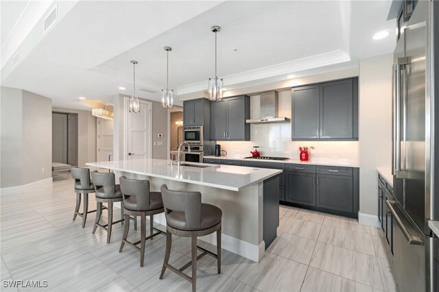
{"label": "white baseboard trim along the bottom of the kitchen island", "polygon": [[[154,215],[154,222],[166,226],[165,215],[163,213]],[[244,256],[244,258],[249,258],[250,260],[253,260],[257,263],[259,263],[259,261],[265,255],[265,241],[262,241],[261,243],[259,243],[259,245],[254,245],[252,243],[242,241],[241,239],[237,239],[224,233],[221,237],[221,247],[224,248],[224,250],[228,250],[229,252],[233,252],[234,254],[239,254],[240,256]],[[217,236],[215,232],[206,236],[200,236],[199,239],[201,239],[202,241],[206,241],[206,243],[217,245]]]}

